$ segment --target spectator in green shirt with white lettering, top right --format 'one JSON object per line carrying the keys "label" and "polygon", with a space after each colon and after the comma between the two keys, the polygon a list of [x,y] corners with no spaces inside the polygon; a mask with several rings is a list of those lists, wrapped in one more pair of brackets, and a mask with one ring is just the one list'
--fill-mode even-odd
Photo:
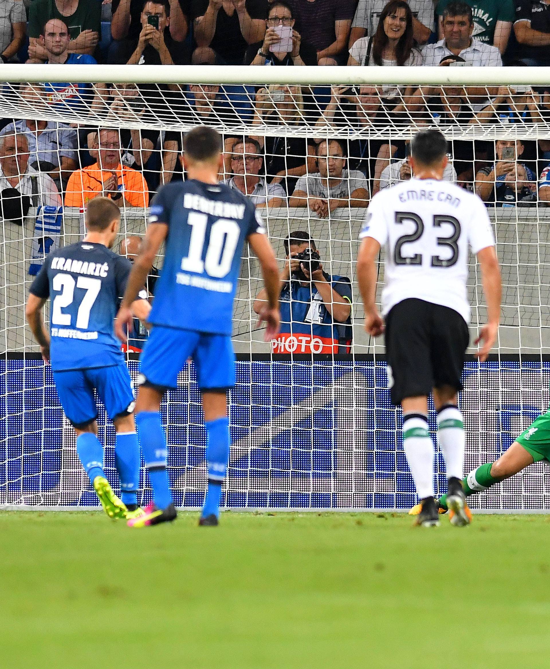
{"label": "spectator in green shirt with white lettering, top right", "polygon": [[[443,10],[455,1],[439,0],[436,5],[440,39],[443,38]],[[504,54],[516,16],[514,0],[464,0],[464,2],[472,7],[474,15],[472,38],[492,44],[497,47],[501,55]]]}

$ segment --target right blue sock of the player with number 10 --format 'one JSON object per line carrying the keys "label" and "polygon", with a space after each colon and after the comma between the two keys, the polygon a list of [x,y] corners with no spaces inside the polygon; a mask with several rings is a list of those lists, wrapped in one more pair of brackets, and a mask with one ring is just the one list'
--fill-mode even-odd
{"label": "right blue sock of the player with number 10", "polygon": [[206,460],[208,462],[208,490],[202,517],[219,516],[221,484],[227,472],[230,452],[229,419],[227,416],[204,423],[207,435]]}

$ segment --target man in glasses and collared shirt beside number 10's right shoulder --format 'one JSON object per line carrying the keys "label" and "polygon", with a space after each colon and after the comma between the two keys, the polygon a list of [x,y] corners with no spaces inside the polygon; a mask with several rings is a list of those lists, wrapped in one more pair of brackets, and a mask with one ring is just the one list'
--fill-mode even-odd
{"label": "man in glasses and collared shirt beside number 10's right shoulder", "polygon": [[223,183],[241,191],[256,205],[256,209],[282,207],[286,203],[286,193],[282,185],[267,183],[265,177],[260,177],[264,162],[261,152],[258,142],[250,137],[235,142],[231,157],[234,177],[225,179]]}

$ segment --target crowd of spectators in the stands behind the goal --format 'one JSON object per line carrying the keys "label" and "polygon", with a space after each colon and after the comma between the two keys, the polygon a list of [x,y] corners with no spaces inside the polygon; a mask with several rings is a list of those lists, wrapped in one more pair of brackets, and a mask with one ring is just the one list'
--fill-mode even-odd
{"label": "crowd of spectators in the stands behind the goal", "polygon": [[[0,7],[4,63],[550,63],[550,0],[0,0]],[[108,68],[105,72],[108,78]],[[546,123],[550,84],[92,86],[72,81],[29,84],[17,94],[37,110],[86,112],[88,119],[87,112],[93,112],[102,118],[95,127],[28,114],[1,120],[0,180],[8,194],[19,191],[21,202],[41,179],[39,191],[66,207],[81,207],[98,194],[120,207],[147,207],[159,185],[185,179],[181,132],[151,129],[158,120],[172,127],[178,122],[225,127],[220,177],[262,208],[304,207],[330,217],[339,207],[365,207],[379,189],[411,178],[407,142],[377,138],[379,130],[411,121],[478,126],[470,139],[450,142],[444,178],[477,192],[487,205],[550,202],[550,139],[495,141],[482,133],[484,124]],[[238,132],[245,124],[248,134]],[[116,129],[120,125],[132,129]],[[294,133],[294,126],[302,132]],[[18,151],[24,156],[14,157]],[[1,199],[9,197],[2,193]],[[10,202],[4,213],[11,211]]]}

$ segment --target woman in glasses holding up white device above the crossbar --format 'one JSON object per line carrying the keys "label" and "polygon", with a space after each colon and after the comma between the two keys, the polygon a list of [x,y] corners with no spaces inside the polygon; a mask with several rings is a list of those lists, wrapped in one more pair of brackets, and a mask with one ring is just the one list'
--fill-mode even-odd
{"label": "woman in glasses holding up white device above the crossbar", "polygon": [[271,3],[264,41],[248,47],[245,65],[316,65],[314,47],[302,41],[294,23],[292,8],[285,0]]}

